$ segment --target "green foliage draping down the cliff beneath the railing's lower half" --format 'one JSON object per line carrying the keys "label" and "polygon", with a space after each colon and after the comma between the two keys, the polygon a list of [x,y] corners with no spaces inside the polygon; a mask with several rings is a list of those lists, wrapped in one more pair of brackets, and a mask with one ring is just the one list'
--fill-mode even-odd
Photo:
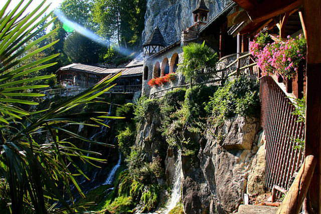
{"label": "green foliage draping down the cliff beneath the railing's lower half", "polygon": [[[182,148],[185,155],[195,154],[199,149],[197,136],[204,131],[207,117],[205,103],[215,90],[216,87],[195,86],[186,91],[181,107],[181,100],[177,102],[177,109],[162,106],[162,134],[171,146]],[[164,101],[164,105],[167,102]]]}

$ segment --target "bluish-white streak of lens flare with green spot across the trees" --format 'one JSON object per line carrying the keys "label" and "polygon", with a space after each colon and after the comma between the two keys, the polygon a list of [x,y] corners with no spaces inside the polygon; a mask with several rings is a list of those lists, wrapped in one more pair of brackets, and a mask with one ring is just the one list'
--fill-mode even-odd
{"label": "bluish-white streak of lens flare with green spot across the trees", "polygon": [[[105,39],[101,38],[100,36],[98,36],[97,34],[93,33],[92,31],[84,28],[83,26],[70,21],[61,10],[55,10],[54,14],[57,16],[57,18],[59,19],[60,22],[63,23],[63,29],[66,32],[77,32],[78,34],[87,37],[88,39],[104,46],[104,47],[109,47],[112,44],[108,43]],[[125,56],[129,56],[130,54],[133,53],[133,51],[126,49],[126,48],[114,48],[115,51],[117,51],[118,53],[125,55]]]}

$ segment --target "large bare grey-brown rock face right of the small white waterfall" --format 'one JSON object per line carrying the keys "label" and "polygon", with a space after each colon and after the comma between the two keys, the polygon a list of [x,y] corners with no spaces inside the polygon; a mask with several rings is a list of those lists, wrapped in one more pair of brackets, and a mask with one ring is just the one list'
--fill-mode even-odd
{"label": "large bare grey-brown rock face right of the small white waterfall", "polygon": [[259,127],[257,118],[230,118],[220,128],[208,127],[197,157],[182,156],[185,213],[231,213],[238,208]]}

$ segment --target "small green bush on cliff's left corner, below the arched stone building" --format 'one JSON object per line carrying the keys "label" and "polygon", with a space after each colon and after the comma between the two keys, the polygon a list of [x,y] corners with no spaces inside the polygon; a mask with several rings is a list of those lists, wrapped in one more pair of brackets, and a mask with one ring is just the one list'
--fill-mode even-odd
{"label": "small green bush on cliff's left corner, below the arched stone building", "polygon": [[144,121],[148,115],[157,115],[159,113],[159,101],[142,96],[137,101],[134,111],[135,121]]}

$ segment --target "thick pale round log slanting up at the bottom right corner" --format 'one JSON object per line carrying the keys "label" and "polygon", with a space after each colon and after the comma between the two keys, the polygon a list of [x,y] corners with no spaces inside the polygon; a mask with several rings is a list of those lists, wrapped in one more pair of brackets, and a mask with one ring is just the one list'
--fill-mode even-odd
{"label": "thick pale round log slanting up at the bottom right corner", "polygon": [[314,156],[306,156],[290,189],[285,194],[281,206],[277,209],[277,214],[298,214],[300,212],[315,165]]}

